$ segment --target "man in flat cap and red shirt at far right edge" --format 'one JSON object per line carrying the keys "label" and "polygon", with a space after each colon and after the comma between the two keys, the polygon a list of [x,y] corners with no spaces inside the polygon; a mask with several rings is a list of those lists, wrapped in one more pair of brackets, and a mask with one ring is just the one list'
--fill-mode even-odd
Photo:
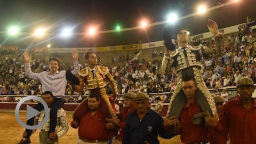
{"label": "man in flat cap and red shirt at far right edge", "polygon": [[[230,100],[223,106],[219,123],[211,124],[226,143],[229,135],[230,144],[252,144],[256,141],[256,101],[252,99],[253,81],[242,77],[236,84],[239,99]],[[206,120],[206,119],[205,119]]]}

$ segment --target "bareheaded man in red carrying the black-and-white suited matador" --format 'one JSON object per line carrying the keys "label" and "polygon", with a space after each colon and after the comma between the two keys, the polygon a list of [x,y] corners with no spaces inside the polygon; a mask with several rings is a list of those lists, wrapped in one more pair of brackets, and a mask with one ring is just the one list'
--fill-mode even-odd
{"label": "bareheaded man in red carrying the black-and-white suited matador", "polygon": [[[204,113],[201,107],[196,102],[196,82],[195,78],[185,76],[182,79],[182,91],[186,95],[186,103],[183,106],[180,116],[177,119],[177,124],[174,125],[174,133],[180,134],[182,143],[201,143],[208,142],[208,129],[204,123]],[[176,118],[169,119],[169,121]]]}

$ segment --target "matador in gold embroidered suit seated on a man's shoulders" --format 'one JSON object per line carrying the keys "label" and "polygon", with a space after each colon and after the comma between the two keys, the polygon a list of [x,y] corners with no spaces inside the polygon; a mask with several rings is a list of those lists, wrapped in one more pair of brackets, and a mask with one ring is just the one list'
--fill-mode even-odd
{"label": "matador in gold embroidered suit seated on a man's shoulders", "polygon": [[[83,68],[78,73],[78,79],[80,81],[79,85],[75,86],[76,92],[83,91],[83,86],[90,92],[98,93],[100,95],[100,110],[103,112],[104,116],[106,118],[111,118],[115,116],[115,111],[113,110],[113,107],[111,107],[111,103],[109,99],[112,98],[114,101],[116,98],[117,92],[117,86],[115,83],[114,78],[111,76],[111,74],[108,71],[107,67],[98,66],[97,65],[97,57],[95,53],[93,52],[87,52],[84,55],[84,59],[87,63],[87,67]],[[113,94],[110,96],[106,93],[106,80],[109,81],[109,84],[112,87]],[[88,108],[87,99],[82,101],[80,105],[76,108],[73,114],[73,120],[74,121],[80,121],[82,116],[86,113]],[[71,122],[72,126],[72,122]]]}

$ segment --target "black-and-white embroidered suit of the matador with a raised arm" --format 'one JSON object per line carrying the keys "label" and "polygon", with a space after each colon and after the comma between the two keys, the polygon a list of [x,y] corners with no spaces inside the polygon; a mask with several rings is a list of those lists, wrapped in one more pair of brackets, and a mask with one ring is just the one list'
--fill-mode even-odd
{"label": "black-and-white embroidered suit of the matador with a raised arm", "polygon": [[177,47],[170,53],[169,57],[166,57],[164,54],[162,61],[162,74],[171,75],[172,71],[175,71],[178,77],[177,89],[174,91],[171,97],[167,114],[170,112],[174,98],[177,96],[180,90],[182,90],[182,77],[188,75],[195,77],[197,87],[202,91],[204,97],[209,103],[212,114],[215,114],[215,103],[202,78],[201,70],[204,68],[204,66],[201,63],[201,59],[202,57],[222,57],[223,54],[225,54],[225,48],[222,36],[215,37],[214,49],[206,46],[189,45],[185,50],[180,50]]}

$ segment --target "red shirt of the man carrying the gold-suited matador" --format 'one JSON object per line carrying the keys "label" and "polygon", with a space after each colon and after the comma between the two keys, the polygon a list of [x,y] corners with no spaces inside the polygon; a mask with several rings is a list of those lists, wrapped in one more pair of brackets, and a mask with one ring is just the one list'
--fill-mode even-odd
{"label": "red shirt of the man carrying the gold-suited matador", "polygon": [[101,111],[98,110],[93,116],[87,111],[79,122],[78,135],[87,140],[108,141],[114,136],[114,132],[107,130],[106,123]]}

